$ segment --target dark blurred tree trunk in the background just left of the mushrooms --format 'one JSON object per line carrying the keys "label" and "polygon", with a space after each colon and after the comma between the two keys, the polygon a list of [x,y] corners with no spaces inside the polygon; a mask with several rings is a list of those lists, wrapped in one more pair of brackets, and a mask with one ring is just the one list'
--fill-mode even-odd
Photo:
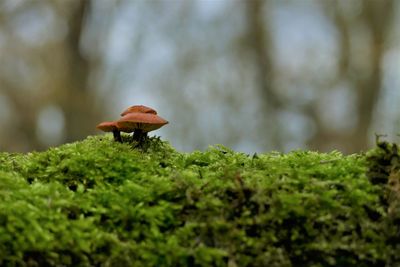
{"label": "dark blurred tree trunk in the background just left of the mushrooms", "polygon": [[[85,18],[91,1],[75,1],[68,19],[68,35],[63,43],[64,79],[58,88],[59,105],[65,116],[66,142],[85,138],[94,131],[93,124],[101,118],[101,110],[95,104],[95,95],[89,88],[90,62],[81,51],[80,41]],[[64,87],[64,88],[62,88]]]}

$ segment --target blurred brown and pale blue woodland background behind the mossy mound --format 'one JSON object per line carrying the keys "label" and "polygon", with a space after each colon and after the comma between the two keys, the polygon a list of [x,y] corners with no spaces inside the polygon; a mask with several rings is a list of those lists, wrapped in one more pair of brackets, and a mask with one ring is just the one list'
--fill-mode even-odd
{"label": "blurred brown and pale blue woodland background behind the mossy mound", "polygon": [[400,133],[398,0],[1,0],[0,151],[130,105],[180,151],[365,150]]}

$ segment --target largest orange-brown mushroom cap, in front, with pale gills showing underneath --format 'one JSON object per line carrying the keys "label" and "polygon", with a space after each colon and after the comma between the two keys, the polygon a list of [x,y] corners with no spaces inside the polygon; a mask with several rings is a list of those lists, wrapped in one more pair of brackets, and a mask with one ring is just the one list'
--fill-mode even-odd
{"label": "largest orange-brown mushroom cap, in front, with pale gills showing underneath", "polygon": [[161,128],[168,121],[152,113],[128,113],[117,121],[118,128],[123,132],[142,130],[147,133]]}

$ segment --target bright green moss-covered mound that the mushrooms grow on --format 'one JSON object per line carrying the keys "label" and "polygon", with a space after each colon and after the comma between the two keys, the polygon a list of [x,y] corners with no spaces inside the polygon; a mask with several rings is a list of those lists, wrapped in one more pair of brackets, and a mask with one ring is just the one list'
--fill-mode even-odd
{"label": "bright green moss-covered mound that the mushrooms grow on", "polygon": [[386,148],[187,154],[97,136],[0,153],[0,266],[392,266]]}

